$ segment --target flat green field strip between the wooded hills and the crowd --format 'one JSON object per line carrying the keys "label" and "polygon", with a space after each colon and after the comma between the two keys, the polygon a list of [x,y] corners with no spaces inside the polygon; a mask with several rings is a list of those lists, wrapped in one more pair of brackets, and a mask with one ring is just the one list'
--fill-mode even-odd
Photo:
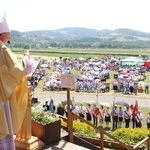
{"label": "flat green field strip between the wooded hills and the crowd", "polygon": [[[101,58],[104,55],[113,56],[150,56],[150,49],[29,49],[31,55],[53,57],[83,57]],[[15,49],[16,54],[21,54],[21,49]]]}

